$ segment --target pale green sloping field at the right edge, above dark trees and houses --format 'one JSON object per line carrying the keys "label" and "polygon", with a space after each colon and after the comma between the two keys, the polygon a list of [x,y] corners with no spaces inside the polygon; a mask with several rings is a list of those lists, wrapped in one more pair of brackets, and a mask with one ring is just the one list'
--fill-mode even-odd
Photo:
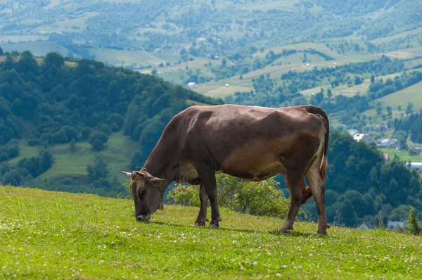
{"label": "pale green sloping field at the right edge, above dark trees and houses", "polygon": [[[414,104],[414,111],[420,110],[422,108],[422,82],[414,84],[411,87],[397,91],[394,94],[383,96],[381,98],[375,99],[370,102],[370,110],[364,112],[365,115],[376,115],[376,104],[380,102],[381,106],[385,109],[386,106],[391,106],[393,115],[399,115],[400,113],[404,114],[406,110],[407,103],[411,102]],[[402,111],[397,110],[397,106],[402,106]]]}

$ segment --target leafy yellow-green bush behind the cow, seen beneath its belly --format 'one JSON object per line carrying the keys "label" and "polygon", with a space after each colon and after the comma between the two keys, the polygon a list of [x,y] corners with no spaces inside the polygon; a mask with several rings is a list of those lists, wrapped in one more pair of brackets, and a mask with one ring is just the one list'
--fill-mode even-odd
{"label": "leafy yellow-green bush behind the cow, seen beneath its belly", "polygon": [[[262,182],[249,182],[228,175],[217,175],[219,205],[250,215],[285,217],[288,212],[288,200],[284,193],[276,188],[273,178]],[[199,205],[198,186],[179,184],[170,191],[168,198],[180,205]]]}

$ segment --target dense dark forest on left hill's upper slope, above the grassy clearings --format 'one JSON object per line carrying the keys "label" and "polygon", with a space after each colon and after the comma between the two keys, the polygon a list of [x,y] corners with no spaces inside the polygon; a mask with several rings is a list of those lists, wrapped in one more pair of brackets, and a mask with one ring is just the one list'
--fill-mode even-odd
{"label": "dense dark forest on left hill's upper slope, above the grassy clearings", "polygon": [[[72,63],[49,53],[39,66],[29,51],[0,63],[0,160],[11,159],[2,146],[13,138],[44,147],[89,141],[98,151],[122,128],[141,139],[136,159],[146,158],[171,117],[188,107],[186,99],[222,103],[151,75],[84,59]],[[30,127],[25,135],[22,127]]]}

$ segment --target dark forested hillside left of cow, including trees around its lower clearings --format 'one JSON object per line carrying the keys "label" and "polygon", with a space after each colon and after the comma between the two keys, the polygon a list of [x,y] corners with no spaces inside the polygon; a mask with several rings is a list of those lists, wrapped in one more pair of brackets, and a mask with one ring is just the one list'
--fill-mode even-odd
{"label": "dark forested hillside left of cow, including trees around its lower clearings", "polygon": [[[60,184],[61,178],[70,191],[127,193],[119,180],[109,176],[107,162],[101,157],[109,137],[122,130],[139,143],[125,159],[124,166],[130,170],[143,164],[170,118],[193,103],[221,102],[152,75],[96,61],[65,63],[60,54],[49,53],[39,65],[29,51],[20,57],[7,56],[0,63],[0,182],[28,184],[54,165],[49,150],[68,144],[65,153],[71,154],[79,143],[89,142],[89,153],[98,153],[94,165],[83,160],[78,163],[75,158],[87,175],[68,182],[60,175],[66,174],[63,170],[51,178],[51,184]],[[21,148],[31,147],[39,153],[14,161]],[[113,174],[117,174],[115,170]],[[46,182],[39,184],[48,188]],[[80,184],[85,186],[74,186]]]}

